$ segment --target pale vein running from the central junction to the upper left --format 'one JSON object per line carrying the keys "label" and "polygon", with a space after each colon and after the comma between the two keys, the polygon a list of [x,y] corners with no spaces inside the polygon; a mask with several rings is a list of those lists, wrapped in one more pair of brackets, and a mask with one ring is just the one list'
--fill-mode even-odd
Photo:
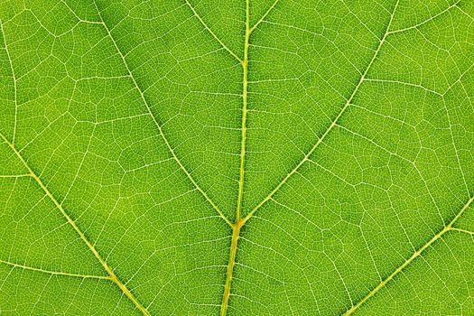
{"label": "pale vein running from the central junction to the upper left", "polygon": [[168,139],[164,136],[163,129],[162,129],[162,125],[160,125],[160,123],[158,123],[157,118],[153,115],[152,109],[151,109],[150,105],[148,104],[148,101],[146,100],[146,98],[144,98],[144,91],[138,86],[138,83],[137,83],[136,80],[135,80],[135,76],[134,76],[134,74],[132,73],[132,70],[130,70],[130,68],[128,67],[128,63],[127,63],[126,60],[125,60],[124,54],[123,54],[122,51],[120,51],[120,49],[118,48],[118,45],[117,45],[117,43],[116,43],[116,40],[115,40],[114,37],[112,36],[112,33],[110,33],[110,30],[108,29],[107,24],[104,22],[104,18],[102,17],[102,14],[100,13],[100,10],[98,9],[98,5],[96,4],[95,1],[94,1],[94,5],[96,5],[97,11],[98,11],[98,15],[99,15],[99,17],[100,17],[100,21],[101,21],[102,25],[104,25],[104,28],[106,29],[106,32],[107,32],[107,34],[108,34],[108,37],[110,37],[110,40],[114,43],[114,46],[115,46],[115,48],[116,48],[116,51],[118,52],[118,54],[119,54],[120,57],[122,58],[122,60],[123,60],[123,62],[124,62],[124,65],[125,65],[125,69],[128,71],[128,74],[130,75],[130,79],[132,79],[132,82],[134,83],[135,88],[136,88],[137,91],[140,93],[140,97],[141,97],[142,100],[144,101],[144,106],[146,107],[146,110],[148,111],[148,114],[152,117],[154,124],[156,125],[156,127],[158,127],[158,131],[160,132],[160,135],[161,135],[162,138],[163,138],[163,142],[164,142],[164,144],[166,144],[166,147],[168,147],[168,150],[170,151],[170,153],[172,153],[172,157],[174,158],[174,160],[176,161],[176,163],[178,163],[178,165],[180,166],[181,170],[186,174],[186,176],[188,177],[188,179],[190,179],[190,181],[191,181],[191,183],[194,185],[194,187],[196,187],[196,189],[198,189],[198,191],[200,191],[200,193],[202,194],[202,196],[203,196],[206,200],[208,200],[209,204],[210,204],[214,209],[216,209],[216,211],[218,212],[218,215],[219,215],[222,219],[224,219],[224,221],[226,221],[226,223],[228,223],[228,225],[229,225],[230,227],[232,227],[232,223],[228,220],[228,218],[224,215],[224,213],[222,213],[222,211],[218,208],[218,206],[216,205],[216,203],[214,203],[214,201],[209,198],[208,194],[200,188],[200,185],[194,180],[194,178],[192,178],[191,173],[188,172],[188,170],[187,170],[187,169],[184,167],[184,165],[181,163],[181,161],[180,161],[180,159],[178,158],[178,156],[176,155],[176,153],[174,153],[174,149],[172,148],[172,145],[170,144],[170,142],[168,142]]}

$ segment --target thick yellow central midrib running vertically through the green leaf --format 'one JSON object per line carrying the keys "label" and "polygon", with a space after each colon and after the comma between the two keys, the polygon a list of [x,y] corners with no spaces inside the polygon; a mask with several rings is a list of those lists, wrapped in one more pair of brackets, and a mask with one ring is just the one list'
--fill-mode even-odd
{"label": "thick yellow central midrib running vertically through the green leaf", "polygon": [[240,144],[240,172],[238,175],[238,193],[237,193],[237,208],[236,208],[236,222],[232,225],[232,240],[230,242],[230,251],[228,256],[228,271],[226,275],[226,284],[224,287],[224,295],[222,297],[222,304],[220,306],[220,315],[225,316],[228,310],[228,297],[230,295],[230,284],[232,283],[232,273],[234,265],[236,264],[237,241],[240,234],[240,228],[244,222],[240,220],[242,209],[242,198],[244,196],[244,175],[246,163],[246,106],[248,94],[248,40],[250,38],[250,21],[249,21],[249,0],[246,0],[246,38],[244,42],[244,59],[242,64],[242,140]]}

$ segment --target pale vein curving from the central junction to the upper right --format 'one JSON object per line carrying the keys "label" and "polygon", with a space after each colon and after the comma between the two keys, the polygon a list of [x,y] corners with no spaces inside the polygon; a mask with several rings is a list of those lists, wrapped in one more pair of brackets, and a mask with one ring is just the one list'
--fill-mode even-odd
{"label": "pale vein curving from the central junction to the upper right", "polygon": [[326,138],[327,135],[330,134],[330,131],[332,130],[332,128],[334,128],[334,126],[338,123],[339,121],[339,118],[340,116],[342,116],[344,114],[344,112],[348,109],[352,99],[356,96],[356,93],[358,92],[358,88],[360,88],[360,86],[362,85],[362,82],[364,81],[364,79],[366,78],[366,75],[368,73],[368,70],[370,70],[371,66],[373,65],[374,61],[376,60],[376,57],[378,55],[378,52],[380,51],[380,49],[382,48],[382,45],[384,44],[384,42],[386,41],[386,37],[388,36],[388,31],[390,30],[390,25],[392,24],[392,21],[394,19],[394,15],[395,15],[395,11],[396,11],[396,7],[398,6],[398,3],[399,3],[399,0],[396,1],[396,4],[395,4],[395,7],[394,7],[394,11],[392,12],[392,14],[390,14],[390,19],[386,25],[386,31],[384,33],[384,35],[382,36],[382,39],[380,40],[380,42],[378,43],[378,46],[376,48],[376,51],[374,53],[374,56],[372,57],[372,59],[368,62],[367,64],[367,68],[366,70],[364,71],[364,73],[362,74],[362,76],[360,77],[359,81],[358,81],[358,84],[357,86],[354,88],[354,90],[352,91],[352,94],[350,95],[349,99],[347,100],[346,104],[344,105],[344,107],[342,107],[342,109],[340,110],[338,116],[336,116],[336,118],[334,118],[334,120],[331,122],[330,126],[328,127],[328,129],[326,129],[326,131],[324,132],[324,134],[318,139],[318,141],[316,142],[316,144],[314,144],[312,147],[311,147],[311,150],[306,153],[302,159],[302,161],[300,161],[300,163],[298,163],[296,165],[296,167],[293,168],[293,170],[291,172],[288,172],[286,174],[286,176],[283,178],[282,181],[280,181],[280,183],[278,183],[278,185],[276,185],[276,187],[274,187],[274,190],[271,191],[266,197],[264,200],[262,200],[260,203],[258,203],[256,205],[256,207],[254,209],[252,209],[252,211],[250,211],[250,213],[247,214],[246,218],[244,218],[242,221],[243,223],[246,223],[246,221],[250,218],[252,218],[252,216],[256,213],[256,211],[258,209],[260,209],[268,200],[272,199],[272,197],[274,196],[274,194],[280,190],[280,188],[283,186],[283,184],[288,181],[288,179],[290,179],[292,177],[292,175],[298,171],[298,169],[300,169],[300,167],[302,166],[303,163],[305,163],[311,156],[312,153],[314,153],[314,151],[316,150],[316,148],[318,148],[318,146],[322,143],[322,141],[324,140],[324,138]]}

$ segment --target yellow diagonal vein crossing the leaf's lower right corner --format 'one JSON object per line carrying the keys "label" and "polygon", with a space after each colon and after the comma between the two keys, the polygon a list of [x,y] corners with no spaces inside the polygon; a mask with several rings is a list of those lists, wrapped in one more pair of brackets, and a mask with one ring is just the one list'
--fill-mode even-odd
{"label": "yellow diagonal vein crossing the leaf's lower right corner", "polygon": [[460,212],[454,217],[452,218],[451,222],[446,225],[444,228],[441,229],[441,231],[439,233],[437,233],[436,235],[434,235],[434,237],[432,237],[430,240],[428,240],[428,242],[426,242],[422,247],[420,247],[418,250],[416,250],[414,252],[414,254],[412,256],[410,256],[408,259],[405,260],[405,262],[400,265],[399,267],[397,267],[395,269],[395,271],[390,274],[384,281],[382,281],[381,283],[378,283],[378,285],[376,285],[376,287],[370,291],[370,293],[368,293],[362,300],[360,300],[356,305],[352,306],[349,311],[346,311],[343,315],[344,316],[348,316],[350,314],[352,314],[354,311],[358,310],[358,308],[360,307],[360,305],[362,305],[364,302],[367,302],[368,299],[370,299],[372,296],[374,296],[381,288],[383,288],[386,283],[390,282],[396,274],[399,274],[400,272],[402,272],[402,270],[407,266],[407,265],[410,265],[410,263],[412,263],[414,261],[414,259],[416,259],[418,256],[421,256],[423,254],[423,251],[426,250],[426,248],[428,248],[429,246],[432,245],[432,243],[434,243],[437,239],[439,239],[442,235],[444,235],[446,232],[450,231],[450,230],[460,230],[459,228],[452,228],[452,225],[454,225],[454,223],[462,216],[462,214],[464,213],[464,211],[466,209],[469,209],[469,205],[470,203],[472,203],[472,201],[474,200],[474,195],[472,197],[470,197],[470,199],[468,200],[468,202],[462,207],[462,209],[460,209]]}

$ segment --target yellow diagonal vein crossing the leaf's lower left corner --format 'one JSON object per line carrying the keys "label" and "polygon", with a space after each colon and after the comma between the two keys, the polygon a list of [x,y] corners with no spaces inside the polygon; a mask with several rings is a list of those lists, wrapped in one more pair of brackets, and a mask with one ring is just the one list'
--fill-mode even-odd
{"label": "yellow diagonal vein crossing the leaf's lower left corner", "polygon": [[0,138],[2,138],[4,140],[4,142],[6,144],[8,144],[10,146],[10,148],[12,148],[12,150],[14,151],[15,155],[18,157],[18,159],[23,163],[23,165],[25,166],[25,168],[28,170],[28,172],[30,172],[30,174],[32,175],[33,179],[38,183],[38,185],[42,188],[42,191],[44,191],[44,193],[50,198],[50,200],[54,203],[54,205],[56,206],[56,208],[58,208],[60,210],[60,213],[62,214],[62,216],[64,218],[66,218],[66,220],[68,221],[68,223],[70,223],[70,226],[72,228],[74,228],[74,230],[76,231],[76,233],[79,235],[80,239],[82,239],[82,241],[86,244],[86,246],[88,246],[89,250],[92,252],[92,254],[98,259],[98,262],[104,267],[104,269],[106,270],[107,274],[109,275],[109,279],[111,281],[113,281],[114,283],[116,283],[116,285],[120,288],[120,290],[122,290],[122,292],[125,294],[125,296],[130,299],[130,301],[132,301],[136,308],[139,310],[139,311],[142,311],[142,313],[145,315],[145,316],[150,316],[150,313],[144,308],[144,305],[142,305],[141,302],[139,302],[136,298],[135,298],[135,295],[133,293],[130,292],[130,290],[125,286],[125,284],[120,281],[120,279],[116,276],[116,274],[114,273],[114,271],[110,268],[110,266],[107,265],[107,262],[102,258],[102,256],[100,256],[100,254],[98,253],[98,250],[95,248],[95,246],[88,240],[88,237],[86,237],[84,235],[84,233],[82,232],[82,230],[80,230],[80,228],[76,225],[76,223],[74,222],[74,220],[72,220],[72,218],[70,218],[70,215],[68,214],[68,212],[66,212],[65,209],[62,208],[62,205],[60,204],[60,202],[52,195],[51,191],[48,190],[48,188],[44,185],[44,183],[42,182],[42,180],[38,177],[38,175],[33,172],[33,169],[32,167],[30,167],[30,165],[24,160],[23,156],[21,153],[19,153],[16,148],[14,147],[14,144],[8,142],[8,140],[5,138],[4,135],[0,134]]}

